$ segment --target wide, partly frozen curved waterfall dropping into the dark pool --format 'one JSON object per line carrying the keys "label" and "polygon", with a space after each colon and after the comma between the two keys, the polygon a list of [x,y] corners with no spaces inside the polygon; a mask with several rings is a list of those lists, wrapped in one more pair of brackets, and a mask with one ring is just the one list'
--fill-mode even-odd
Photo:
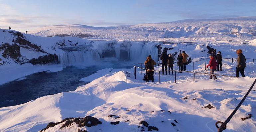
{"label": "wide, partly frozen curved waterfall dropping into the dark pool", "polygon": [[[159,45],[159,44],[158,44]],[[100,43],[95,47],[82,49],[79,47],[68,47],[59,54],[59,62],[64,65],[97,65],[102,58],[116,58],[120,61],[131,61],[132,63],[143,63],[148,55],[158,61],[159,46],[157,43],[144,44],[141,42],[111,42]],[[160,49],[161,50],[161,49]],[[111,60],[111,59],[110,59]]]}

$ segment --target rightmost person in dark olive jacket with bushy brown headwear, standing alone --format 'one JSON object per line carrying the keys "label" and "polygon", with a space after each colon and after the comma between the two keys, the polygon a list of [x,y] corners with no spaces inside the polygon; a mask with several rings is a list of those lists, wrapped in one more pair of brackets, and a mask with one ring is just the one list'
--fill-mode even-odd
{"label": "rightmost person in dark olive jacket with bushy brown headwear, standing alone", "polygon": [[246,58],[242,53],[243,51],[241,49],[236,50],[237,54],[237,66],[236,66],[236,77],[239,77],[239,72],[241,73],[242,77],[245,77],[244,75],[244,69],[246,67]]}

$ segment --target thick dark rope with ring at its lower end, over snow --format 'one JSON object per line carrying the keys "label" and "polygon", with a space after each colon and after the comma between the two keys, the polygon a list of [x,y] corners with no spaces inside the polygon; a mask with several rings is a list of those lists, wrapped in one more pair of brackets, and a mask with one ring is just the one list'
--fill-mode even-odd
{"label": "thick dark rope with ring at its lower end, over snow", "polygon": [[[239,107],[243,104],[244,100],[246,99],[246,97],[248,96],[248,94],[251,92],[254,84],[256,83],[256,79],[254,80],[254,82],[252,83],[250,89],[247,91],[247,93],[244,95],[243,99],[240,101],[240,103],[237,105],[237,107],[234,109],[234,111],[230,114],[230,116],[228,116],[228,118],[225,120],[225,122],[221,122],[221,121],[217,121],[215,123],[215,126],[218,129],[218,132],[222,132],[223,130],[225,130],[227,128],[227,123],[230,121],[230,119],[235,115],[236,111],[239,109]],[[221,123],[220,127],[218,127],[218,123]]]}

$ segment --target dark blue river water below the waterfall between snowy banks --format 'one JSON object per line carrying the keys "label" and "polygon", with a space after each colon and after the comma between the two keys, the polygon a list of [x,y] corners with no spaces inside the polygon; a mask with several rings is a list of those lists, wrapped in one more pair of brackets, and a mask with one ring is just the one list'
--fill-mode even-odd
{"label": "dark blue river water below the waterfall between snowy banks", "polygon": [[0,85],[0,107],[14,106],[26,103],[42,96],[73,91],[78,86],[87,83],[80,82],[103,68],[132,68],[132,65],[113,63],[104,66],[76,67],[67,66],[63,71],[47,73],[40,72],[29,76],[22,81],[13,81]]}

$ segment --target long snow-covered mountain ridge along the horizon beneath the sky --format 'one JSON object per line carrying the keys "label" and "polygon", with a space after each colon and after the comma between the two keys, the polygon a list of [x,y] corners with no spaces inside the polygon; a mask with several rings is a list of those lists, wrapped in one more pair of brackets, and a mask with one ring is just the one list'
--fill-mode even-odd
{"label": "long snow-covered mountain ridge along the horizon beneath the sky", "polygon": [[56,25],[30,31],[37,36],[74,36],[83,38],[139,39],[179,37],[229,37],[251,39],[256,35],[255,17],[179,20],[131,26],[91,27]]}

